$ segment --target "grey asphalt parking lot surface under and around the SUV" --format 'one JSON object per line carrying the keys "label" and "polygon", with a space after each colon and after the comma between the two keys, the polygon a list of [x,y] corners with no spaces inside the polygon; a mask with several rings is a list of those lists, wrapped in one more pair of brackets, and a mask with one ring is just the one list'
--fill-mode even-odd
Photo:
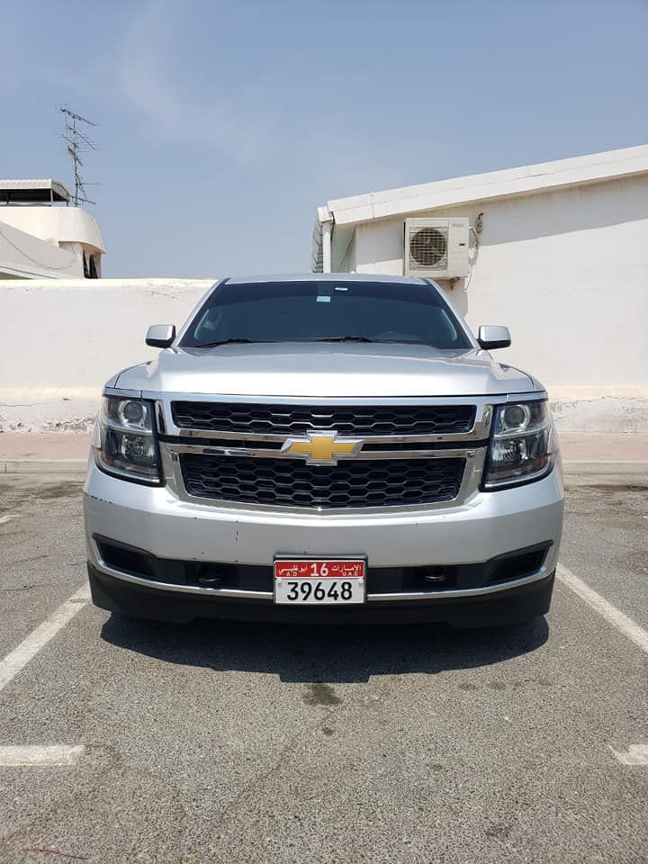
{"label": "grey asphalt parking lot surface under and around the SUV", "polygon": [[[638,630],[647,491],[571,473],[562,555]],[[1,477],[0,658],[84,581],[80,482]],[[463,633],[74,604],[0,680],[0,754],[76,748],[0,764],[2,864],[648,861],[648,654],[568,581],[546,620]]]}

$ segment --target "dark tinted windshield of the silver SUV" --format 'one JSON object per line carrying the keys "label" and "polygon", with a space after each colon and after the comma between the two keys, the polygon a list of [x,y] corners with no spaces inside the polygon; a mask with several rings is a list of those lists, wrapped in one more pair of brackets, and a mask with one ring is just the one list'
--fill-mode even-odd
{"label": "dark tinted windshield of the silver SUV", "polygon": [[329,340],[472,347],[433,285],[341,280],[224,282],[198,311],[181,345]]}

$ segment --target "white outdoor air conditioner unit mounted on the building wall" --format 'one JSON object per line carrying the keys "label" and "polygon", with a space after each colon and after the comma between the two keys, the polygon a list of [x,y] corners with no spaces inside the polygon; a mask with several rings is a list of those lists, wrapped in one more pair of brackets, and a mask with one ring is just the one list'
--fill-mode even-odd
{"label": "white outdoor air conditioner unit mounted on the building wall", "polygon": [[467,276],[467,216],[406,219],[403,273],[432,279]]}

